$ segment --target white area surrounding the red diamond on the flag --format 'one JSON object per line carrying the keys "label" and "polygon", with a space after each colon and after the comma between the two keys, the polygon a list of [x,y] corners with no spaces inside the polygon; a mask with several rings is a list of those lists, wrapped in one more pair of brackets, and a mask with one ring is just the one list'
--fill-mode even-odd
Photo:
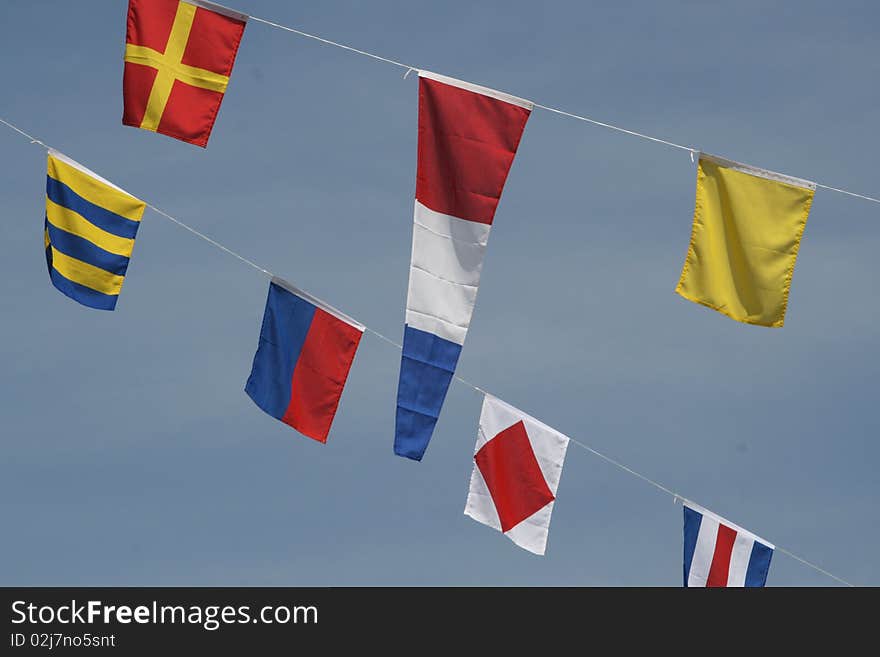
{"label": "white area surrounding the red diamond on the flag", "polygon": [[[535,459],[538,461],[547,487],[555,496],[559,488],[559,479],[562,476],[565,453],[568,449],[568,437],[491,395],[486,395],[483,398],[474,454],[500,432],[517,422],[522,422],[525,426]],[[518,525],[511,527],[505,536],[519,547],[534,554],[543,555],[547,548],[553,506],[554,502],[544,505]],[[476,463],[471,473],[471,483],[464,513],[477,522],[501,531],[498,511],[495,509],[492,495]]]}

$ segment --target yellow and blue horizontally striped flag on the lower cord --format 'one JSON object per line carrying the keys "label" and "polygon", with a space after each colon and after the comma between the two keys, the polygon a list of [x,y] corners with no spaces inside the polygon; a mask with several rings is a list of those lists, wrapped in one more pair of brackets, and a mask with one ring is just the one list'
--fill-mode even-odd
{"label": "yellow and blue horizontally striped flag on the lower cord", "polygon": [[146,204],[49,151],[46,262],[52,284],[84,306],[113,310]]}

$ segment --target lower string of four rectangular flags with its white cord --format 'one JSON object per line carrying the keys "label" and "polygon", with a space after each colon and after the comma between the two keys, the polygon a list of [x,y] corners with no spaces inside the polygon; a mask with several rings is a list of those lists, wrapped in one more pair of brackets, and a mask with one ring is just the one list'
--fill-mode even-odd
{"label": "lower string of four rectangular flags with its white cord", "polygon": [[[261,410],[303,435],[326,442],[365,331],[404,349],[173,215],[129,195],[15,124],[2,117],[0,123],[48,153],[46,258],[50,280],[65,295],[94,308],[115,308],[136,224],[145,208],[269,277],[263,325],[245,392]],[[98,223],[101,228],[97,228]],[[114,238],[129,241],[114,243]],[[95,260],[96,254],[106,257],[99,253],[99,244],[121,246],[116,249],[121,253],[115,254],[115,261]],[[67,250],[79,257],[67,255]],[[89,264],[85,261],[88,259],[102,266]],[[107,271],[114,266],[117,273]],[[103,291],[96,287],[103,287]],[[306,366],[299,366],[300,362]],[[855,586],[586,443],[565,436],[462,377],[452,378],[483,396],[465,514],[501,531],[516,545],[544,554],[563,461],[568,444],[573,443],[682,503],[684,586],[764,586],[775,550],[841,584]]]}

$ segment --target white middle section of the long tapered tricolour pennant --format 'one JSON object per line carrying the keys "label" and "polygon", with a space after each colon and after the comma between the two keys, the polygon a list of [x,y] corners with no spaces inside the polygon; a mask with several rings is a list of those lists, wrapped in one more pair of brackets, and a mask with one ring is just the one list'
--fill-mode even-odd
{"label": "white middle section of the long tapered tricolour pennant", "polygon": [[408,326],[464,344],[490,230],[488,224],[434,212],[415,202]]}

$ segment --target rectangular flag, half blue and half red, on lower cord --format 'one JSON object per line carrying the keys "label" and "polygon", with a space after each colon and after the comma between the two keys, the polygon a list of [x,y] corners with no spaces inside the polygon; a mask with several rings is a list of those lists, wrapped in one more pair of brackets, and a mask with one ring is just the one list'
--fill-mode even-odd
{"label": "rectangular flag, half blue and half red, on lower cord", "polygon": [[273,278],[245,392],[272,417],[326,443],[363,332],[355,320]]}

